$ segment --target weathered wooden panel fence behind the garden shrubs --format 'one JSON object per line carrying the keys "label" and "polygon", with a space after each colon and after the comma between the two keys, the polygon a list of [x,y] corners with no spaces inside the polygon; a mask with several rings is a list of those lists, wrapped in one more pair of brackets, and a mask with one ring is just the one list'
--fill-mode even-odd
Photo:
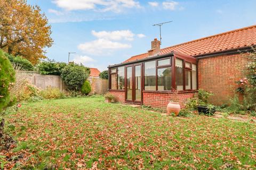
{"label": "weathered wooden panel fence behind the garden shrubs", "polygon": [[[67,89],[66,84],[59,75],[42,75],[34,71],[20,71],[18,74],[28,79],[31,84],[34,84],[39,89],[46,89],[47,87],[58,88],[61,91]],[[88,80],[92,87],[90,94],[103,95],[108,91],[108,79],[89,77]]]}

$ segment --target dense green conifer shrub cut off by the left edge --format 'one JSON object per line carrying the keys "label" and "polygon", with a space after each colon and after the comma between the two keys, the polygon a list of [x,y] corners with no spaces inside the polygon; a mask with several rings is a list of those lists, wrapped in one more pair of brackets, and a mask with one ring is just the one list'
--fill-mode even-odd
{"label": "dense green conifer shrub cut off by the left edge", "polygon": [[0,113],[14,104],[15,99],[9,91],[14,81],[15,71],[12,64],[0,49]]}

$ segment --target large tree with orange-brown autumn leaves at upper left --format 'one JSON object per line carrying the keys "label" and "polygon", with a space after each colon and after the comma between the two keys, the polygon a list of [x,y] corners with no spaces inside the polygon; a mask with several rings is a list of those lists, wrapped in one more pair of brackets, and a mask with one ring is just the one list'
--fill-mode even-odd
{"label": "large tree with orange-brown autumn leaves at upper left", "polygon": [[51,26],[39,6],[26,0],[0,1],[0,48],[36,64],[46,58],[44,48],[51,47]]}

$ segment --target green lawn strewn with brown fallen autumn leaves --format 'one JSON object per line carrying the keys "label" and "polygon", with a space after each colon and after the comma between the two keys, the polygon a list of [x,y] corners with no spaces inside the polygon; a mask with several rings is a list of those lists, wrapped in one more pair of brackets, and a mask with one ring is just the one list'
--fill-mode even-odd
{"label": "green lawn strewn with brown fallen autumn leaves", "polygon": [[17,141],[1,153],[6,168],[256,168],[255,124],[166,116],[103,97],[22,104],[6,131]]}

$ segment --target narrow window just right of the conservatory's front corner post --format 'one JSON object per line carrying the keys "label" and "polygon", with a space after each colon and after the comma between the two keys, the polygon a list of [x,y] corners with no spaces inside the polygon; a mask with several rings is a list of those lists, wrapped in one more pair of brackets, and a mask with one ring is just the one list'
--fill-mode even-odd
{"label": "narrow window just right of the conservatory's front corner post", "polygon": [[176,89],[183,90],[183,60],[175,59]]}

